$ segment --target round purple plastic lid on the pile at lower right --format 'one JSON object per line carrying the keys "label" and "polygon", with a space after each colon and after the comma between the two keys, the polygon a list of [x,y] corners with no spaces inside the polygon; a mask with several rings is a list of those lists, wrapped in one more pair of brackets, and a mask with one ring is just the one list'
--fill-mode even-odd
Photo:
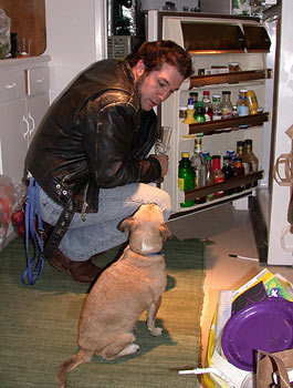
{"label": "round purple plastic lid on the pile at lower right", "polygon": [[275,297],[241,308],[226,324],[221,345],[229,363],[255,371],[258,349],[293,348],[293,303]]}

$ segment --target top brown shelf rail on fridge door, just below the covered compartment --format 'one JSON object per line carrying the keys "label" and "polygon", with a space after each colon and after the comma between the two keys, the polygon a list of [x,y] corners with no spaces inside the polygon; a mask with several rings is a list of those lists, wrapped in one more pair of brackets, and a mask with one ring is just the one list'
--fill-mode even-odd
{"label": "top brown shelf rail on fridge door, just below the covered compartment", "polygon": [[268,70],[252,70],[239,71],[231,73],[220,73],[210,75],[196,75],[190,78],[189,89],[201,88],[205,85],[220,84],[220,83],[238,83],[245,81],[265,80],[272,76],[272,71]]}

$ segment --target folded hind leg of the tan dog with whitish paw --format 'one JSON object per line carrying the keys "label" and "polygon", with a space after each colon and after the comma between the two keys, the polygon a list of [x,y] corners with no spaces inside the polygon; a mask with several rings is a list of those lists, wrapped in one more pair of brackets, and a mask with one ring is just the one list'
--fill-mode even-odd
{"label": "folded hind leg of the tan dog with whitish paw", "polygon": [[101,356],[105,360],[112,360],[122,356],[133,355],[139,350],[139,346],[134,344],[135,336],[132,333],[126,333],[115,337],[115,341],[105,347]]}

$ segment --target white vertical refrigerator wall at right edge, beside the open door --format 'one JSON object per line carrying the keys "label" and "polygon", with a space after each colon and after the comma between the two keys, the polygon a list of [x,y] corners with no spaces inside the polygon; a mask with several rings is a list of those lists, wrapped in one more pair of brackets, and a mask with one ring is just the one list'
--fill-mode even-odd
{"label": "white vertical refrigerator wall at right edge, beside the open door", "polygon": [[[282,153],[291,151],[291,140],[285,131],[293,124],[293,2],[282,1],[282,31],[280,51],[279,101],[275,106],[276,137],[274,162]],[[285,246],[292,252],[283,249],[280,243],[281,234],[287,228],[287,208],[290,202],[290,187],[280,186],[273,182],[271,196],[271,217],[269,232],[268,263],[274,265],[292,265],[293,235],[285,237]]]}

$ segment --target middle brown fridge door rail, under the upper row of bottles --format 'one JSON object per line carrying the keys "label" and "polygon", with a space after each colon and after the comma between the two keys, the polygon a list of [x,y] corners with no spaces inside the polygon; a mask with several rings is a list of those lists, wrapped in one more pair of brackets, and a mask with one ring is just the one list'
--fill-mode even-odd
{"label": "middle brown fridge door rail, under the upper row of bottles", "polygon": [[233,118],[233,119],[222,119],[216,121],[207,121],[205,123],[196,123],[189,125],[189,134],[203,133],[205,135],[221,133],[227,131],[239,131],[243,127],[241,125],[255,126],[262,125],[264,122],[269,121],[269,113],[258,113],[248,116]]}

